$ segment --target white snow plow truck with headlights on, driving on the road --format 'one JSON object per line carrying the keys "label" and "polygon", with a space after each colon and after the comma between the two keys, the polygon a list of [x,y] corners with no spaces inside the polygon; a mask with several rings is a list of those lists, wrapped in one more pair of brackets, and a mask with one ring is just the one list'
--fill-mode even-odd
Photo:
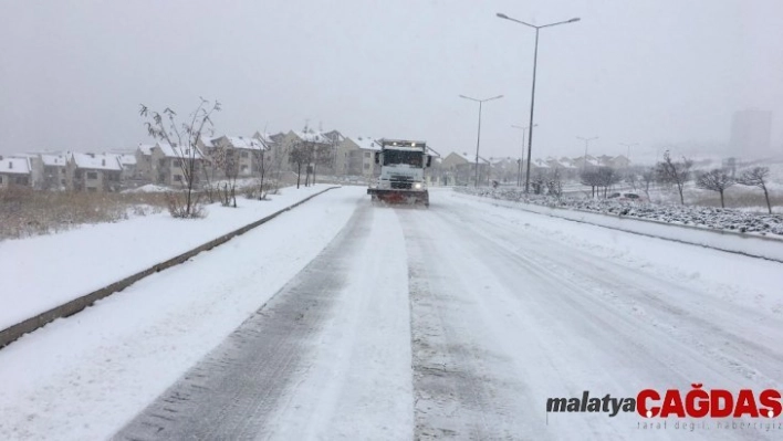
{"label": "white snow plow truck with headlights on, driving on the road", "polygon": [[367,189],[373,202],[429,207],[424,170],[432,162],[432,156],[427,154],[427,143],[405,139],[377,143],[380,151],[375,153],[375,164],[380,166],[380,176]]}

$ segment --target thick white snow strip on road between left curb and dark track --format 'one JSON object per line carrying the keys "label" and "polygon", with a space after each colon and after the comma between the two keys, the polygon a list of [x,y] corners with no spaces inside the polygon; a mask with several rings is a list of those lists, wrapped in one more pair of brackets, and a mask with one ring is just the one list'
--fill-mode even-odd
{"label": "thick white snow strip on road between left curb and dark track", "polygon": [[112,437],[315,258],[365,196],[331,190],[3,348],[0,439]]}

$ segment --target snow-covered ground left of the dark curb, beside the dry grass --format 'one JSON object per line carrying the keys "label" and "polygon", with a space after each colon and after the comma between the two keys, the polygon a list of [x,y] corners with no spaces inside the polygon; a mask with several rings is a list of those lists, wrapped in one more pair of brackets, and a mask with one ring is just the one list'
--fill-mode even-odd
{"label": "snow-covered ground left of the dark curb, beside the dry grass", "polygon": [[285,188],[271,200],[211,204],[205,219],[168,212],[0,242],[0,329],[146,270],[328,186]]}

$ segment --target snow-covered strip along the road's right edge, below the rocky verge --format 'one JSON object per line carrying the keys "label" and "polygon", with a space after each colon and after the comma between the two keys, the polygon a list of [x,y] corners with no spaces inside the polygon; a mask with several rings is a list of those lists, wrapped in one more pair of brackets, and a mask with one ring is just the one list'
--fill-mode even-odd
{"label": "snow-covered strip along the road's right edge, below the rocky verge", "polygon": [[[783,239],[779,238],[751,235],[737,231],[716,230],[696,225],[682,225],[651,219],[638,219],[580,209],[536,206],[525,202],[467,195],[459,191],[455,191],[453,193],[459,195],[460,197],[476,198],[477,201],[491,203],[498,207],[507,207],[573,222],[587,223],[610,230],[645,235],[648,238],[662,239],[689,245],[698,245],[712,250],[783,263]],[[662,234],[654,234],[635,228],[644,224],[660,227],[666,232]],[[714,243],[716,240],[721,243]]]}

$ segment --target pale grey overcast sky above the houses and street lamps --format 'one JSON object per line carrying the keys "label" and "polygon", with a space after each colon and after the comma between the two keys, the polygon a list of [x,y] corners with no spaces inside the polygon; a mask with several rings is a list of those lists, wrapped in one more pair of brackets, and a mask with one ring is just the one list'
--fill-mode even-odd
{"label": "pale grey overcast sky above the houses and street lamps", "polygon": [[[728,143],[774,112],[783,151],[783,1],[0,0],[0,153],[149,138],[138,105],[218,98],[217,134],[310,126],[520,155],[539,45],[534,157]],[[635,153],[631,151],[631,158]]]}

